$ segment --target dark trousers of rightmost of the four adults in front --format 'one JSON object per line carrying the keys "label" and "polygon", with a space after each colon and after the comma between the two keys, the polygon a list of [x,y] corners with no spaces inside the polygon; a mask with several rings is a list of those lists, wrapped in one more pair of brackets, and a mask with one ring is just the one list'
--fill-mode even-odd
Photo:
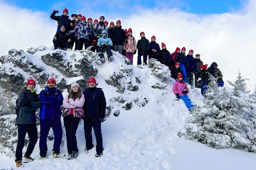
{"label": "dark trousers of rightmost of the four adults in front", "polygon": [[102,146],[102,134],[101,134],[101,122],[99,118],[84,118],[84,136],[86,148],[93,148],[93,136],[91,135],[91,128],[94,130],[96,138],[96,152],[101,153],[103,151]]}

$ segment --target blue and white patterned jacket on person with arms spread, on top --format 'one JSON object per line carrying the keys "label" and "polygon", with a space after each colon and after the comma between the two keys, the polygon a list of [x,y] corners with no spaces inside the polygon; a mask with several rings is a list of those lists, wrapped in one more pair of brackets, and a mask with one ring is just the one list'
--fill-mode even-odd
{"label": "blue and white patterned jacket on person with arms spread, on top", "polygon": [[73,30],[71,30],[71,33],[76,32],[77,30],[78,30],[77,40],[79,38],[85,38],[89,40],[89,33],[92,35],[96,35],[96,33],[93,32],[93,30],[88,26],[86,22],[85,23],[80,22]]}

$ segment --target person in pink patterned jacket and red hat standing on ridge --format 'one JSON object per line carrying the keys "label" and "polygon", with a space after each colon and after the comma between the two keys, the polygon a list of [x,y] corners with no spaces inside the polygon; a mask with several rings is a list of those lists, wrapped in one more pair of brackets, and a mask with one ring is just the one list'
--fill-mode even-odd
{"label": "person in pink patterned jacket and red hat standing on ridge", "polygon": [[130,59],[131,64],[133,64],[133,55],[136,54],[137,51],[137,42],[132,36],[131,28],[128,29],[128,35],[125,38],[124,50],[126,51],[126,58]]}

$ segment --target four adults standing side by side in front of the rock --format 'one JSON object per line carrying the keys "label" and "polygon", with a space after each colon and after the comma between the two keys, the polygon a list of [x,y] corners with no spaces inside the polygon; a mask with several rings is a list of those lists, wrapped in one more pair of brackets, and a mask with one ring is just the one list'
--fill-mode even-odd
{"label": "four adults standing side by side in front of the rock", "polygon": [[40,108],[40,140],[39,149],[41,159],[47,157],[47,136],[52,128],[54,133],[53,158],[65,157],[60,153],[60,144],[62,140],[61,125],[61,106],[65,108],[62,113],[63,123],[67,138],[67,159],[76,159],[78,155],[76,130],[79,122],[84,121],[84,134],[86,140],[86,153],[91,150],[93,138],[92,128],[96,137],[96,157],[103,154],[101,122],[104,121],[106,111],[106,100],[101,88],[96,87],[96,79],[90,77],[88,80],[89,88],[84,92],[80,89],[78,83],[71,85],[71,92],[63,98],[61,91],[56,88],[56,80],[52,77],[47,80],[46,87],[38,96],[34,90],[35,81],[30,78],[26,87],[19,93],[16,108],[16,123],[18,126],[18,142],[15,152],[16,167],[22,166],[23,148],[25,136],[28,133],[29,143],[24,155],[24,163],[33,161],[30,156],[34,150],[38,139],[35,112]]}

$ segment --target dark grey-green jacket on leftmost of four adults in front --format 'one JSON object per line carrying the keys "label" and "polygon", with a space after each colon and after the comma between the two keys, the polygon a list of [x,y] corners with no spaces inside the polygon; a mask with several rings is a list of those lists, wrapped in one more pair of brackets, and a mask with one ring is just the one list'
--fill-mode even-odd
{"label": "dark grey-green jacket on leftmost of four adults in front", "polygon": [[[20,102],[31,102],[31,107],[20,107]],[[19,113],[16,118],[15,125],[20,124],[35,124],[36,116],[35,111],[37,108],[41,108],[42,103],[39,99],[39,96],[34,91],[31,93],[30,90],[24,88],[22,92],[19,93],[19,99],[17,108],[19,109]]]}

